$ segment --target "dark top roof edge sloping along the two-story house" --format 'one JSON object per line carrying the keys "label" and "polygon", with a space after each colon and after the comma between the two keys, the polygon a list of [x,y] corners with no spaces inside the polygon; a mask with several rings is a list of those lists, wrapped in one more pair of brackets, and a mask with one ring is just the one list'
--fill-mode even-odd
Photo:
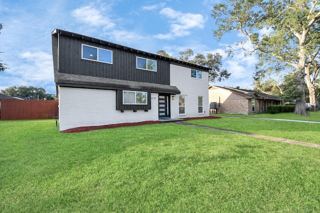
{"label": "dark top roof edge sloping along the two-story house", "polygon": [[149,55],[150,57],[153,57],[153,58],[159,58],[159,59],[162,59],[162,60],[170,61],[171,63],[174,63],[174,64],[181,64],[182,66],[184,65],[184,66],[188,66],[188,67],[195,67],[197,69],[201,69],[202,71],[206,71],[206,72],[208,72],[211,69],[211,68],[208,68],[208,67],[192,64],[192,63],[185,62],[185,61],[180,61],[178,59],[165,57],[165,56],[157,55],[157,54],[154,54],[154,53],[145,52],[145,51],[142,51],[142,50],[134,49],[134,48],[127,47],[127,46],[122,46],[120,44],[112,43],[112,42],[109,42],[109,41],[104,41],[104,40],[97,39],[97,38],[92,38],[92,37],[89,37],[89,36],[86,36],[86,35],[81,35],[81,34],[77,34],[77,33],[73,33],[73,32],[64,31],[64,30],[61,30],[61,29],[54,29],[52,31],[52,34],[55,34],[55,33],[68,35],[68,36],[71,36],[71,37],[80,38],[80,39],[84,39],[84,40],[89,40],[89,41],[96,42],[96,43],[99,43],[99,44],[105,44],[105,45],[112,46],[112,47],[115,47],[115,48],[118,48],[118,49],[123,49],[123,50],[129,51],[129,52],[142,53],[144,55]]}

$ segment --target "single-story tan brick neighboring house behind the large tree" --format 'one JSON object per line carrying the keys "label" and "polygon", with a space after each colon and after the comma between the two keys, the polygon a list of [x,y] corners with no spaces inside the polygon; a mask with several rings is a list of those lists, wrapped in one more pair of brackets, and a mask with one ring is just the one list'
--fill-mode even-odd
{"label": "single-story tan brick neighboring house behind the large tree", "polygon": [[216,102],[217,113],[244,115],[265,113],[267,106],[281,104],[274,95],[226,86],[209,86],[211,102]]}

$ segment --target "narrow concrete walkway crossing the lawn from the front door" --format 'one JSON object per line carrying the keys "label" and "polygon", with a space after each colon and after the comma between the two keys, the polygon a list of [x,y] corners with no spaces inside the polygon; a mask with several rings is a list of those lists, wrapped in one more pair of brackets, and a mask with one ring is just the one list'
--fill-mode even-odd
{"label": "narrow concrete walkway crossing the lawn from the front door", "polygon": [[[239,118],[239,117],[236,117],[236,118]],[[241,118],[243,118],[243,117],[241,117]],[[271,120],[273,120],[273,119],[271,119]],[[286,120],[286,121],[288,121],[288,120]],[[263,136],[263,135],[254,135],[254,134],[243,133],[243,132],[235,132],[235,131],[230,131],[230,130],[216,129],[216,128],[205,127],[205,126],[200,126],[200,125],[195,125],[195,124],[188,124],[188,123],[184,123],[181,121],[177,121],[177,122],[173,122],[173,123],[179,124],[179,125],[197,127],[197,128],[201,128],[201,129],[219,131],[219,132],[227,132],[227,133],[233,133],[233,134],[239,134],[239,135],[246,135],[246,136],[250,136],[250,137],[254,137],[254,138],[262,138],[262,139],[277,141],[277,142],[282,142],[282,143],[298,144],[298,145],[302,145],[302,146],[320,149],[320,145],[318,145],[318,144],[309,144],[309,143],[305,143],[305,142],[292,141],[292,140],[287,140],[287,139],[282,139],[282,138],[274,138],[274,137]],[[318,123],[320,123],[320,122],[318,122]]]}

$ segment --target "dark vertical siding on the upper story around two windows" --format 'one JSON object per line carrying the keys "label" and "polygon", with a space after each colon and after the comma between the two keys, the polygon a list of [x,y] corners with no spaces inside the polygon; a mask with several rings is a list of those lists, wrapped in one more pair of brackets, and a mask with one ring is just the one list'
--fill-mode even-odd
{"label": "dark vertical siding on the upper story around two windows", "polygon": [[[106,64],[81,59],[81,44],[112,50],[112,63]],[[59,72],[94,77],[148,82],[169,85],[169,61],[156,59],[157,71],[136,69],[136,56],[153,59],[130,49],[116,48],[59,34]]]}

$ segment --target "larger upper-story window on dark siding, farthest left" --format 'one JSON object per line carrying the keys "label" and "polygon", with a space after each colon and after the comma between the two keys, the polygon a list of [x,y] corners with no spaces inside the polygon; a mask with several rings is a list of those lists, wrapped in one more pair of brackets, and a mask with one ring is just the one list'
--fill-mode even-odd
{"label": "larger upper-story window on dark siding, farthest left", "polygon": [[112,64],[112,51],[82,44],[82,59]]}

